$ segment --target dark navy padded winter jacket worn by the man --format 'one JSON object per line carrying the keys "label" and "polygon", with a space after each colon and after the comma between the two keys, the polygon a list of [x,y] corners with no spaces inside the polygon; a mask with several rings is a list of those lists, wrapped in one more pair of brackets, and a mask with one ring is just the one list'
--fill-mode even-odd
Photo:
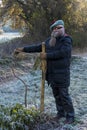
{"label": "dark navy padded winter jacket worn by the man", "polygon": [[[70,59],[72,38],[68,35],[56,38],[56,45],[50,46],[48,38],[46,43],[48,84],[59,87],[70,85]],[[24,52],[41,52],[41,44],[24,47]]]}

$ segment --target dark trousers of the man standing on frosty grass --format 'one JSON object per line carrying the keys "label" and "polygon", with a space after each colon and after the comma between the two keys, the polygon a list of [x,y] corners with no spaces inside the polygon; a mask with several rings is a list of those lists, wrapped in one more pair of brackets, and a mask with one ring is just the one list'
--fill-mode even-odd
{"label": "dark trousers of the man standing on frosty grass", "polygon": [[74,108],[68,93],[68,87],[52,87],[59,116],[74,118]]}

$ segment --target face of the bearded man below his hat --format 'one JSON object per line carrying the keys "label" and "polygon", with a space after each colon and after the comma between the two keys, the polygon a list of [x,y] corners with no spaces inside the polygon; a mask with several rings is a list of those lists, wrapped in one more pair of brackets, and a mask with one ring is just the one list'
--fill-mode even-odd
{"label": "face of the bearded man below his hat", "polygon": [[53,28],[53,33],[55,34],[56,37],[63,36],[65,34],[64,26],[62,26],[62,25],[55,26]]}

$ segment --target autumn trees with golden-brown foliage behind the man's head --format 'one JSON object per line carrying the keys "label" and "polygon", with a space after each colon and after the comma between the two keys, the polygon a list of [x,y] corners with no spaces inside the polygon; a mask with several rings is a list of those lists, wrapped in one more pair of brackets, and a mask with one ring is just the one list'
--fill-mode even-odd
{"label": "autumn trees with golden-brown foliage behind the man's head", "polygon": [[12,20],[13,28],[21,28],[25,37],[42,41],[50,35],[54,20],[63,19],[74,46],[87,43],[87,0],[2,0],[0,19]]}

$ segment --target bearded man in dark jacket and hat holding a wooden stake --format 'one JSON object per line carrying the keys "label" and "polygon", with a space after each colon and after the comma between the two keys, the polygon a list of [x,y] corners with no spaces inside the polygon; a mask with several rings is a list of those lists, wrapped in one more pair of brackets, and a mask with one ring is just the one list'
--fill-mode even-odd
{"label": "bearded man in dark jacket and hat holding a wooden stake", "polygon": [[46,80],[51,86],[56,102],[57,118],[66,117],[66,123],[74,122],[74,108],[68,93],[70,85],[70,59],[72,39],[65,34],[63,20],[57,20],[50,26],[51,37],[45,41],[46,53],[42,45],[18,48],[17,52],[41,52],[40,58],[47,60]]}

